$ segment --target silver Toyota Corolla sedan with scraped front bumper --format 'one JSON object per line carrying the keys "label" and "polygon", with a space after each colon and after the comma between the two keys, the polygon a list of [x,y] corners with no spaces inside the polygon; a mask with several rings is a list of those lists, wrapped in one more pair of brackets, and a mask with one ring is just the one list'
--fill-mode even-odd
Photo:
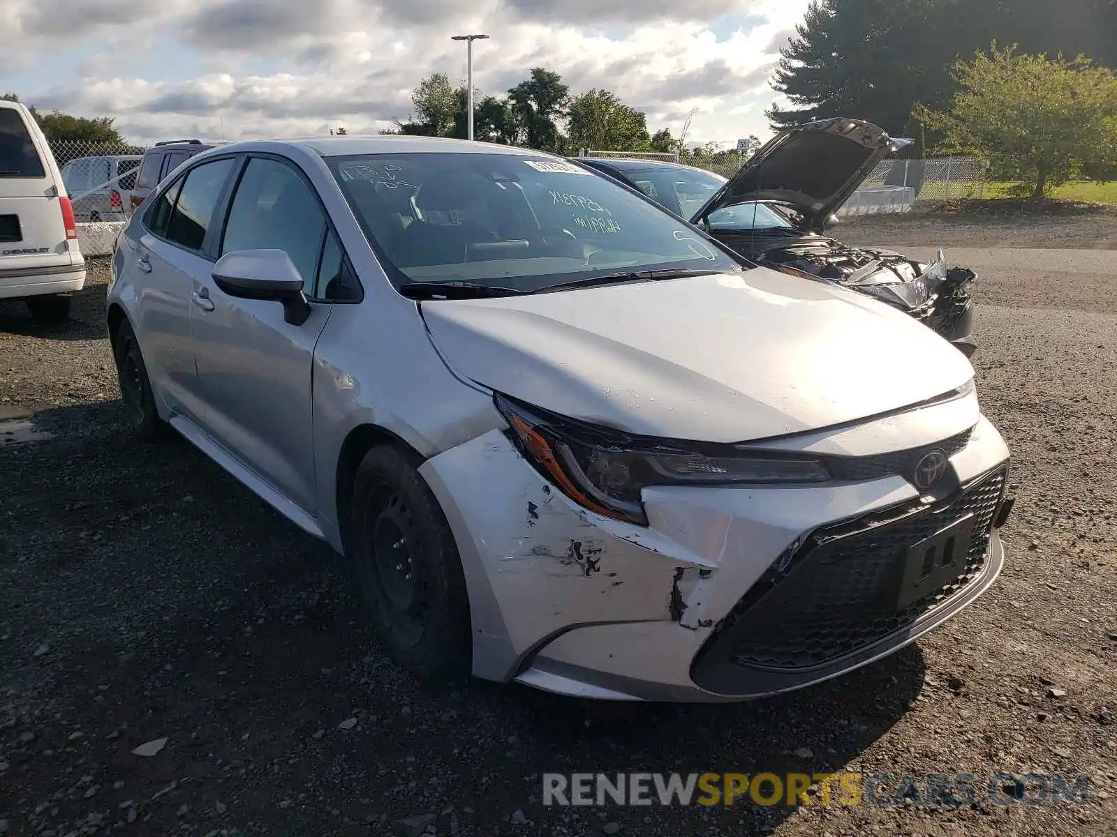
{"label": "silver Toyota Corolla sedan with scraped front bumper", "polygon": [[1001,570],[1009,451],[961,353],[560,157],[214,148],[132,217],[107,301],[136,433],[349,556],[422,675],[757,698]]}

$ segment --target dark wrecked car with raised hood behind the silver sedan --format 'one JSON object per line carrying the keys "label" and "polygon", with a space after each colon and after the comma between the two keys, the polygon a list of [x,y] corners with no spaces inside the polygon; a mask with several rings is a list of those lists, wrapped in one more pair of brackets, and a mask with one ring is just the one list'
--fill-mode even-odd
{"label": "dark wrecked car with raised hood behind the silver sedan", "polygon": [[729,180],[649,160],[579,162],[639,189],[747,259],[888,302],[971,356],[974,271],[947,267],[942,251],[927,263],[825,234],[828,220],[901,143],[866,122],[823,119],[780,133]]}

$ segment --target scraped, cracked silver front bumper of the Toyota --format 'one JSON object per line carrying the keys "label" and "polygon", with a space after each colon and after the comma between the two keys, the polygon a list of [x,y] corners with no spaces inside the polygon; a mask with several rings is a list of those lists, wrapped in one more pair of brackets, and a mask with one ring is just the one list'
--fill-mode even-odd
{"label": "scraped, cracked silver front bumper of the Toyota", "polygon": [[[919,421],[934,422],[934,410],[926,412]],[[420,472],[457,539],[475,675],[584,698],[729,701],[865,665],[987,589],[1001,568],[992,522],[1006,460],[996,430],[981,419],[951,455],[955,484],[964,488],[937,502],[934,520],[920,512],[916,526],[905,518],[903,537],[918,539],[927,526],[957,517],[962,507],[953,503],[970,502],[960,513],[978,518],[978,537],[955,588],[936,588],[900,614],[877,600],[895,580],[892,554],[850,541],[857,549],[831,555],[810,540],[884,509],[919,512],[918,493],[899,475],[649,488],[649,526],[641,527],[574,503],[499,431],[432,458]],[[975,485],[976,506],[965,500]],[[857,567],[843,564],[825,587],[810,584],[833,575],[834,558],[846,556]],[[840,600],[828,603],[828,589]],[[838,612],[844,622],[834,622]]]}

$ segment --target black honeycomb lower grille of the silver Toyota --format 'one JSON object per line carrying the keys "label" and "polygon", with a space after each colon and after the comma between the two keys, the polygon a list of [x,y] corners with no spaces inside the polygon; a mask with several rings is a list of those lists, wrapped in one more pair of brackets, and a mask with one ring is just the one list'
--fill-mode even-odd
{"label": "black honeycomb lower grille of the silver Toyota", "polygon": [[[815,530],[785,568],[777,561],[748,590],[703,654],[751,668],[813,668],[905,629],[982,574],[1005,478],[1000,470],[937,506],[915,501]],[[907,548],[967,514],[963,574],[898,609]]]}

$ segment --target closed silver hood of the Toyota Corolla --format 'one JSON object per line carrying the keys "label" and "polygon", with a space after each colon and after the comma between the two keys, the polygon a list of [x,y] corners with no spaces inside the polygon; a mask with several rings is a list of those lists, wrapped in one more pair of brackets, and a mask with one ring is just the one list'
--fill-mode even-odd
{"label": "closed silver hood of the Toyota Corolla", "polygon": [[458,374],[572,419],[670,439],[829,427],[973,377],[962,353],[906,314],[766,268],[421,310]]}

